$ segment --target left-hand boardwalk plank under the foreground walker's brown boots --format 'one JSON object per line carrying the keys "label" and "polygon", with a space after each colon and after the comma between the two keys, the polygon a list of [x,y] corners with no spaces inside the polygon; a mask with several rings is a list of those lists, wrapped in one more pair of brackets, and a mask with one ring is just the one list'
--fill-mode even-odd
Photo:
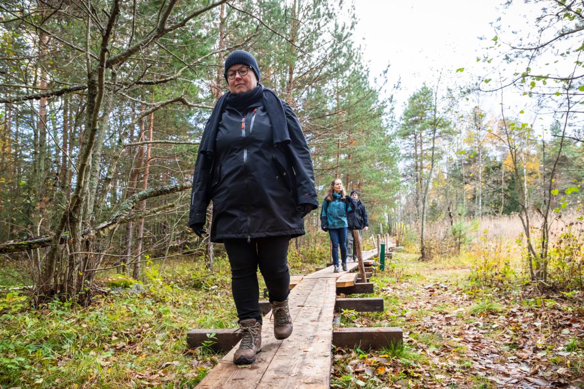
{"label": "left-hand boardwalk plank under the foreground walker's brown boots", "polygon": [[[311,292],[317,282],[318,279],[303,279],[303,281],[290,292],[288,299],[290,304],[290,316],[292,317],[293,323],[298,317],[300,310],[305,304],[307,304],[307,299],[311,296]],[[322,293],[321,291],[318,292]],[[310,302],[308,302],[308,304],[310,304]],[[297,328],[297,325],[295,325],[294,332],[290,338],[292,338],[294,333],[297,332]],[[244,386],[244,384],[245,387],[255,388],[263,374],[269,368],[269,365],[282,342],[283,341],[274,338],[273,322],[270,321],[268,317],[265,317],[262,326],[262,352],[258,353],[255,362],[246,369],[239,369],[237,365],[233,363],[233,355],[238,347],[238,345],[236,345],[230,352],[221,358],[217,366],[215,366],[213,370],[211,370],[207,376],[200,381],[197,388],[239,389]],[[330,346],[330,343],[327,346]],[[330,372],[327,372],[327,374],[329,373]]]}

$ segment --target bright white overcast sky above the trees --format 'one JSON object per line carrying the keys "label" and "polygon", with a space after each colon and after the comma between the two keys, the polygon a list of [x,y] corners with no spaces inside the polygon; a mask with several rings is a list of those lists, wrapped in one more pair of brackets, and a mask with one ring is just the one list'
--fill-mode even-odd
{"label": "bright white overcast sky above the trees", "polygon": [[[390,85],[401,79],[401,90],[395,93],[398,115],[408,97],[423,82],[433,85],[440,71],[449,85],[454,82],[462,85],[486,75],[484,64],[477,62],[477,57],[487,54],[486,47],[493,43],[491,39],[496,33],[491,23],[500,16],[502,2],[356,1],[359,22],[354,40],[363,48],[364,59],[370,62],[372,79],[388,64]],[[522,22],[523,17],[517,17]],[[465,71],[456,73],[457,68]],[[495,97],[489,107],[493,110],[497,109],[494,101]]]}

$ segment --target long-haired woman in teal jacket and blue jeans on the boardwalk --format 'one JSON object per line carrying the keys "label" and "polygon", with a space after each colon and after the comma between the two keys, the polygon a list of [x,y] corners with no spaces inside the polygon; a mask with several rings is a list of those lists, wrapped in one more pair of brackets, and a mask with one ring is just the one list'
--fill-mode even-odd
{"label": "long-haired woman in teal jacket and blue jeans on the boardwalk", "polygon": [[345,195],[343,183],[338,178],[331,182],[322,202],[321,229],[331,237],[335,273],[340,271],[339,247],[343,271],[347,271],[347,215],[357,208],[355,203],[353,198]]}

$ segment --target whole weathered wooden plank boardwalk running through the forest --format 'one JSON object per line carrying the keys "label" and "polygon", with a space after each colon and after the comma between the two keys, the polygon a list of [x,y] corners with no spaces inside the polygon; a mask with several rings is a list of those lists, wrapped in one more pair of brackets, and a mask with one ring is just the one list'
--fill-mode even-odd
{"label": "whole weathered wooden plank boardwalk running through the forest", "polygon": [[[373,250],[363,253],[363,259],[371,258],[374,253]],[[336,288],[339,279],[346,278],[340,281],[342,286],[352,286],[358,276],[350,273],[358,262],[347,265],[347,272],[334,273],[331,266],[301,279],[293,277],[295,286],[288,297],[294,325],[292,335],[281,341],[274,338],[273,321],[270,313],[266,314],[262,352],[258,353],[256,361],[246,367],[235,365],[236,345],[197,388],[329,388]]]}

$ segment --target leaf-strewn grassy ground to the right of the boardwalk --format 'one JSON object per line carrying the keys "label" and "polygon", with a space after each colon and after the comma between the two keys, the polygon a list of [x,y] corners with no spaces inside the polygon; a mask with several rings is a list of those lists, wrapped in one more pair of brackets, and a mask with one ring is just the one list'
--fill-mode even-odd
{"label": "leaf-strewn grassy ground to the right of the boardwalk", "polygon": [[374,276],[383,313],[342,313],[341,325],[401,327],[404,345],[336,349],[331,387],[584,387],[582,292],[540,293],[517,280],[489,288],[472,255],[417,257],[397,253]]}

